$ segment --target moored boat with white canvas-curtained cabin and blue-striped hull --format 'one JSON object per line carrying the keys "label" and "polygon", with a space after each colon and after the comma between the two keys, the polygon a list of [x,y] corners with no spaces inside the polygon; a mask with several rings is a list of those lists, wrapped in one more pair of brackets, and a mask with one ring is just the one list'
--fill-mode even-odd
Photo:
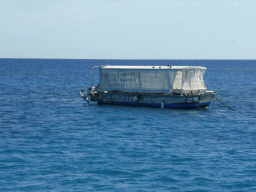
{"label": "moored boat with white canvas-curtained cabin and blue-striped hull", "polygon": [[[99,84],[93,86],[93,69]],[[195,66],[96,66],[92,85],[81,97],[88,103],[158,108],[205,108],[216,93],[204,83],[205,67]]]}

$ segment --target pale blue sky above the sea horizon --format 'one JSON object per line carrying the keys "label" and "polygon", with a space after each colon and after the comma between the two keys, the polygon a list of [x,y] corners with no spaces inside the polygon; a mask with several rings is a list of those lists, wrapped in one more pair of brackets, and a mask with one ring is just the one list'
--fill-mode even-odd
{"label": "pale blue sky above the sea horizon", "polygon": [[0,58],[256,59],[252,0],[1,0]]}

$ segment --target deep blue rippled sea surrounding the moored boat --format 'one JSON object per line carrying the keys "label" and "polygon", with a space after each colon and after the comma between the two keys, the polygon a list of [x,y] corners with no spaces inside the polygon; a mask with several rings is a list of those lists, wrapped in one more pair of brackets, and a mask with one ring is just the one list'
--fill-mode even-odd
{"label": "deep blue rippled sea surrounding the moored boat", "polygon": [[[206,67],[235,111],[88,105],[108,63]],[[0,59],[0,191],[256,191],[255,109],[255,60]]]}

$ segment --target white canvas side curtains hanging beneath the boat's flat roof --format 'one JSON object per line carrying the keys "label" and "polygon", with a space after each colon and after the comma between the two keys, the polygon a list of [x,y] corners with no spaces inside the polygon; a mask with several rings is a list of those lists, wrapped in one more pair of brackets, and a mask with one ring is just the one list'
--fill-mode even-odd
{"label": "white canvas side curtains hanging beneath the boat's flat roof", "polygon": [[[206,90],[204,69],[100,68],[98,91],[172,93]],[[184,77],[185,75],[185,77]]]}

